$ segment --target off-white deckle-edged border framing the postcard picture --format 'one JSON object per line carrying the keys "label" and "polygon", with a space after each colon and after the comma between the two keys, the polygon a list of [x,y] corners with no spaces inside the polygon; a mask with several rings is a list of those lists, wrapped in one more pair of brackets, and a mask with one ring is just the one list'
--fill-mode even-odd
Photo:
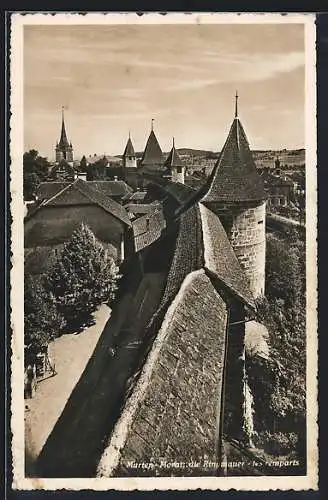
{"label": "off-white deckle-edged border framing the postcard picture", "polygon": [[[318,487],[317,427],[317,190],[316,190],[316,55],[314,14],[231,13],[15,13],[11,16],[11,118],[10,190],[11,214],[11,429],[13,485],[19,490],[307,490]],[[24,244],[23,244],[23,29],[37,24],[291,24],[305,26],[306,54],[306,268],[307,268],[307,475],[282,477],[191,477],[191,478],[68,478],[24,476]]]}

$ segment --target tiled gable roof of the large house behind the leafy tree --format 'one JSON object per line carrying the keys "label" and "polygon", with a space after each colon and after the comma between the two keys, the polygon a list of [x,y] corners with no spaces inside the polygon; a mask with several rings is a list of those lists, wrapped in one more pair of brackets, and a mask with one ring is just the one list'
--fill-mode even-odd
{"label": "tiled gable roof of the large house behind the leafy tree", "polygon": [[[79,196],[82,195],[82,198]],[[102,207],[106,212],[112,214],[117,219],[121,220],[128,226],[131,226],[130,219],[125,208],[113,199],[106,196],[98,189],[90,186],[89,182],[77,179],[73,183],[66,186],[64,189],[56,193],[52,198],[41,203],[39,209],[43,206],[56,205],[76,205],[84,203],[94,203]]]}

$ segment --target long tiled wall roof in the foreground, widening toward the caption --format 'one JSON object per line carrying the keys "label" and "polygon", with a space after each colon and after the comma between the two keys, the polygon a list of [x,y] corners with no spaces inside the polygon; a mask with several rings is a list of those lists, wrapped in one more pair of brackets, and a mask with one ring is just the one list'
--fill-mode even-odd
{"label": "long tiled wall roof in the foreground, widening toward the caption", "polygon": [[187,465],[157,466],[204,456],[217,461],[226,324],[224,300],[210,279],[202,271],[190,275],[166,313],[100,473],[140,475],[128,461],[153,460],[155,468],[143,475],[185,476],[194,472]]}

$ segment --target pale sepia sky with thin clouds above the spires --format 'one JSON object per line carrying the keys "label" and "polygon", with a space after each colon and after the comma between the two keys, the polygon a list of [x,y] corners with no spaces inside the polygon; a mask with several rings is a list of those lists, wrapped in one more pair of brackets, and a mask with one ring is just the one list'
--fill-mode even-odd
{"label": "pale sepia sky with thin clouds above the spires", "polygon": [[163,151],[219,151],[234,115],[253,149],[304,147],[301,24],[24,27],[24,150],[50,160],[65,107],[75,157],[142,151],[151,119]]}

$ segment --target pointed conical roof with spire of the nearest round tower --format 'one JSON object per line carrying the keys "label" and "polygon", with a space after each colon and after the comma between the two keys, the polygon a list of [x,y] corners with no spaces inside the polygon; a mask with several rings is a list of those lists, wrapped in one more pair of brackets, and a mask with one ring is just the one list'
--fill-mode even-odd
{"label": "pointed conical roof with spire of the nearest round tower", "polygon": [[235,117],[202,201],[239,202],[265,199],[263,182],[256,171],[244,128],[238,118],[236,93]]}

